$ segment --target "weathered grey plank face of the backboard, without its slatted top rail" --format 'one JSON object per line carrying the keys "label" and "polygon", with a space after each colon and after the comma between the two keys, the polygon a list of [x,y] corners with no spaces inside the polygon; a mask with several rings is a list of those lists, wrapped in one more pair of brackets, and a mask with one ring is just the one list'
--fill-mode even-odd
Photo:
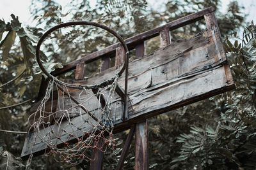
{"label": "weathered grey plank face of the backboard, without its slatted top rail", "polygon": [[[193,38],[172,43],[130,62],[128,94],[131,106],[127,121],[115,122],[114,131],[124,131],[131,127],[131,122],[142,122],[165,111],[234,89],[225,53],[220,48],[220,36],[215,32],[216,27],[211,27]],[[118,69],[120,67],[112,67],[86,80],[70,81],[98,83],[111,78]],[[118,84],[124,88],[124,76]],[[79,117],[73,119],[77,123],[81,120]],[[26,140],[22,157],[28,156],[29,145]],[[38,141],[35,153],[44,148],[44,143]]]}

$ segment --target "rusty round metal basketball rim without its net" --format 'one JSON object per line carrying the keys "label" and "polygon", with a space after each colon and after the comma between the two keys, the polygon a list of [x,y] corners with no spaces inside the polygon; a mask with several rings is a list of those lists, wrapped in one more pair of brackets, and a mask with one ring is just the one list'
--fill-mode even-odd
{"label": "rusty round metal basketball rim without its net", "polygon": [[[42,45],[42,42],[44,41],[44,39],[49,34],[51,34],[51,32],[56,31],[57,29],[60,29],[62,27],[70,26],[70,25],[92,25],[92,26],[95,26],[95,27],[100,27],[101,29],[104,29],[104,30],[110,32],[111,34],[113,34],[113,36],[115,36],[118,39],[118,41],[120,41],[121,45],[124,47],[124,50],[125,50],[125,62],[124,62],[124,65],[122,66],[122,69],[120,69],[120,71],[117,74],[118,74],[118,76],[121,76],[122,73],[124,73],[124,70],[126,70],[125,71],[125,91],[126,91],[126,94],[127,94],[127,76],[128,76],[128,66],[129,66],[129,64],[128,64],[129,63],[129,50],[127,48],[127,45],[125,44],[124,39],[122,39],[122,37],[117,32],[113,31],[113,29],[109,28],[106,25],[99,24],[99,23],[96,23],[96,22],[90,22],[90,21],[66,22],[66,23],[59,24],[59,25],[56,25],[56,26],[52,27],[51,29],[49,29],[48,31],[46,31],[43,34],[43,36],[39,39],[39,41],[37,43],[37,46],[36,46],[36,61],[39,65],[39,67],[42,69],[42,71],[46,74],[46,76],[48,76],[51,79],[55,78],[54,76],[52,76],[50,73],[47,72],[47,70],[45,69],[45,67],[43,66],[43,64],[40,60],[40,46]],[[60,80],[58,80],[58,81],[60,81]],[[111,80],[109,80],[109,81],[111,81]],[[73,86],[71,84],[64,83],[63,81],[60,81],[60,82],[63,83],[63,84],[66,84],[66,85]],[[104,84],[106,84],[106,81],[103,81],[102,83],[99,83],[97,85],[88,85],[88,87],[90,87],[90,88],[100,87],[101,84],[104,86]]]}

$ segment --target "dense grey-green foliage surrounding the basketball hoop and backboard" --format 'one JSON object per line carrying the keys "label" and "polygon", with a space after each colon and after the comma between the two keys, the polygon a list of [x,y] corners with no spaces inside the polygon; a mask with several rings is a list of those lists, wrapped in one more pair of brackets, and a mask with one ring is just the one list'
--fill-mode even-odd
{"label": "dense grey-green foliage surrounding the basketball hoop and backboard", "polygon": [[[35,45],[42,32],[52,25],[68,20],[92,20],[109,25],[123,38],[128,38],[209,6],[216,9],[236,90],[150,118],[150,169],[255,169],[256,27],[252,23],[244,28],[241,38],[237,36],[239,28],[243,29],[245,15],[236,1],[229,4],[226,13],[220,13],[218,0],[167,1],[162,10],[149,6],[145,0],[99,0],[95,6],[86,0],[73,0],[68,7],[61,7],[53,0],[33,0],[31,14],[38,21],[36,28],[24,27],[14,15],[11,22],[0,21],[0,129],[27,130],[26,120],[33,104],[29,99],[37,100],[42,80],[42,72],[35,62]],[[200,21],[172,31],[172,41],[193,36],[204,28],[204,21]],[[93,27],[62,29],[45,41],[41,55],[45,67],[52,71],[115,41]],[[157,48],[159,39],[147,41],[147,53]],[[99,71],[99,65],[97,60],[86,67],[86,76]],[[126,136],[127,132],[116,134],[117,148],[105,154],[103,169],[115,169]],[[24,134],[0,133],[1,169],[7,164],[9,169],[24,167],[22,164],[26,162],[19,159],[23,141]],[[88,169],[89,164],[84,161],[79,166],[60,165],[51,157],[40,156],[33,159],[31,166]],[[134,143],[124,169],[134,169]]]}

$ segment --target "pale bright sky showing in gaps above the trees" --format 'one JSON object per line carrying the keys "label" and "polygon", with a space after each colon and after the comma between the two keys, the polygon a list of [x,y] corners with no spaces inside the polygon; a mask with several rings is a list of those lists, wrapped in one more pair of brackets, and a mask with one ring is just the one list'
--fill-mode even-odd
{"label": "pale bright sky showing in gaps above the trees", "polygon": [[[68,0],[56,0],[58,3],[60,3],[62,6],[65,6],[67,4]],[[166,0],[163,0],[166,1]],[[232,0],[221,0],[222,8],[221,11],[225,11],[227,8],[228,2]],[[243,12],[248,14],[247,21],[250,22],[251,20],[255,20],[256,18],[256,5],[253,3],[255,0],[243,0],[239,1],[239,4],[243,5],[245,9]],[[92,1],[94,2],[94,1]],[[29,13],[29,5],[31,3],[31,0],[0,0],[0,18],[5,21],[10,20],[10,15],[13,13],[14,15],[19,16],[19,19],[22,23],[33,25],[35,26],[35,23],[33,23],[33,17],[31,17]],[[150,6],[156,6],[156,4],[159,4],[159,0],[155,1],[149,1]],[[255,22],[256,23],[256,22]]]}

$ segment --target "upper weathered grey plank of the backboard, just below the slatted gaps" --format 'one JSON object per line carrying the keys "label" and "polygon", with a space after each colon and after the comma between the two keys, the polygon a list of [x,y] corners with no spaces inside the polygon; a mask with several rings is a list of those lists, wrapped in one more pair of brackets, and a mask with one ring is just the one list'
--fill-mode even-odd
{"label": "upper weathered grey plank of the backboard, just below the slatted gaps", "polygon": [[[214,27],[212,30],[215,29]],[[138,87],[137,83],[141,83],[138,78],[142,77],[142,74],[146,74],[151,69],[154,69],[154,71],[150,71],[150,74],[154,77],[154,80],[152,80],[154,84],[159,83],[160,80],[166,81],[166,76],[167,79],[186,76],[225,62],[227,59],[225,55],[223,56],[225,54],[224,50],[220,48],[219,52],[216,51],[216,44],[221,45],[220,36],[216,34],[212,35],[212,32],[214,33],[211,30],[201,32],[193,38],[180,40],[177,43],[148,54],[147,57],[132,61],[131,66],[129,66],[129,79],[133,79],[134,81],[129,81],[128,83],[128,85],[130,84],[129,93],[131,94],[134,87]],[[214,42],[214,36],[216,38],[216,44]],[[219,59],[219,54],[221,55],[221,60]],[[153,55],[154,57],[152,57]],[[108,71],[92,76],[92,78],[87,79],[84,83],[93,84],[109,80],[109,78],[117,73],[118,69],[111,67]],[[149,73],[147,74],[149,75]],[[118,84],[124,87],[124,76],[120,78]]]}

